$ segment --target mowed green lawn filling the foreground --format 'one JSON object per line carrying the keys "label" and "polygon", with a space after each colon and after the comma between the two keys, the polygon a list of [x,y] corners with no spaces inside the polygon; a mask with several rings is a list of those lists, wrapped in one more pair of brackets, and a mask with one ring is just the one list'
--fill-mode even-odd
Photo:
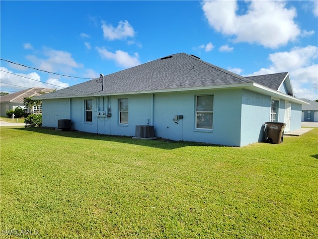
{"label": "mowed green lawn filling the foreground", "polygon": [[318,128],[238,148],[1,127],[0,179],[2,237],[318,237]]}

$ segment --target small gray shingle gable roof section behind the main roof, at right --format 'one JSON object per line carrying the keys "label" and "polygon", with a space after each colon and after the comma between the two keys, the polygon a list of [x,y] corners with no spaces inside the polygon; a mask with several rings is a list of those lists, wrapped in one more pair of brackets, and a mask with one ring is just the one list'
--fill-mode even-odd
{"label": "small gray shingle gable roof section behind the main roof, at right", "polygon": [[248,76],[245,78],[277,91],[279,86],[282,84],[282,82],[286,78],[287,74],[288,72],[283,72],[283,73],[275,73],[275,74],[268,74],[268,75],[261,75],[261,76]]}

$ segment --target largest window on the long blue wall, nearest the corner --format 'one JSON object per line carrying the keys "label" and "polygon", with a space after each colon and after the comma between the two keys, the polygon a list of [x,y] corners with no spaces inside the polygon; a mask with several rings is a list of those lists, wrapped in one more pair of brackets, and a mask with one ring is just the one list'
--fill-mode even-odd
{"label": "largest window on the long blue wall, nearest the corner", "polygon": [[196,128],[213,128],[213,96],[196,96]]}

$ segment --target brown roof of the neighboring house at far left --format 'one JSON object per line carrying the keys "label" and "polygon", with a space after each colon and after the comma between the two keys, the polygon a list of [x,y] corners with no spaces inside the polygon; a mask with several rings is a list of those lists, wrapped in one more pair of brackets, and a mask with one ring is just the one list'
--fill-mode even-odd
{"label": "brown roof of the neighboring house at far left", "polygon": [[41,96],[39,92],[45,92],[49,93],[54,91],[53,89],[49,88],[39,88],[39,87],[33,87],[30,89],[26,89],[23,91],[15,92],[12,94],[8,94],[5,96],[0,97],[0,102],[16,102],[16,103],[23,103],[24,98],[27,97],[35,97],[35,96]]}

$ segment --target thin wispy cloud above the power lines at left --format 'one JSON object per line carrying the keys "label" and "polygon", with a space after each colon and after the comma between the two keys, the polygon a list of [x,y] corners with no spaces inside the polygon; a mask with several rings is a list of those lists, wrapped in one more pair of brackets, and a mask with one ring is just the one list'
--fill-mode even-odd
{"label": "thin wispy cloud above the power lines at left", "polygon": [[67,51],[54,50],[51,48],[43,48],[43,55],[45,59],[39,58],[35,55],[28,55],[26,58],[30,60],[35,67],[49,71],[62,72],[63,74],[74,73],[74,68],[82,68],[83,64],[77,63],[71,53]]}

